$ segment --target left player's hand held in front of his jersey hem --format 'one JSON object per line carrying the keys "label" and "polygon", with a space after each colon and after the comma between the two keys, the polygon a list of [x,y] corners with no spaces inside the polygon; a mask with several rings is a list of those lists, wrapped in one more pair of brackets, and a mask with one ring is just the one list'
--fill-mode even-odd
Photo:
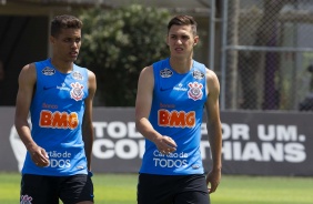
{"label": "left player's hand held in front of his jersey hem", "polygon": [[29,149],[29,153],[31,155],[32,162],[37,166],[44,167],[44,166],[48,166],[50,164],[49,156],[48,156],[44,149],[36,145],[36,146]]}

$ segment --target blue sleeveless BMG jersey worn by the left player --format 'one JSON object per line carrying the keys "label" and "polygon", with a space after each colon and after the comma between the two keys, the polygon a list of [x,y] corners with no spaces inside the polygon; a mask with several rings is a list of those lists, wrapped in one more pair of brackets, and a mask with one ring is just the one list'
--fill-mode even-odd
{"label": "blue sleeveless BMG jersey worn by the left player", "polygon": [[47,151],[50,165],[38,167],[28,152],[22,173],[87,174],[81,125],[88,96],[88,71],[74,64],[71,73],[61,73],[51,64],[51,59],[36,62],[36,91],[30,106],[31,134]]}

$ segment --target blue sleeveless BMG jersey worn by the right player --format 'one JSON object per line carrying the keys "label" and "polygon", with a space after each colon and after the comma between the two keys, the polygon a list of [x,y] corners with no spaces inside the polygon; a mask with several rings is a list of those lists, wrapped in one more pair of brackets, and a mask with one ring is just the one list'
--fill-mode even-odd
{"label": "blue sleeveless BMG jersey worn by the right player", "polygon": [[172,137],[176,151],[169,155],[145,140],[140,173],[160,175],[203,174],[201,124],[206,101],[205,65],[193,61],[188,73],[176,73],[170,59],[153,64],[154,90],[149,120],[162,135]]}

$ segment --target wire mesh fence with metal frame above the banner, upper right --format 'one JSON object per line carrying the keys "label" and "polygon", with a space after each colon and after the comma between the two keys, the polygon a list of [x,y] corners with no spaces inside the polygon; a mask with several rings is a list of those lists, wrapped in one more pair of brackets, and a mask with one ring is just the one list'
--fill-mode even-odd
{"label": "wire mesh fence with metal frame above the banner, upper right", "polygon": [[221,109],[313,111],[313,1],[222,8]]}

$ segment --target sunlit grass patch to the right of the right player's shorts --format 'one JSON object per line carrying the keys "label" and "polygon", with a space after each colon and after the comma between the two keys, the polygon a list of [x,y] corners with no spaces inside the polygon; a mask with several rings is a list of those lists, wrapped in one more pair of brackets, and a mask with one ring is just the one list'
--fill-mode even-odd
{"label": "sunlit grass patch to the right of the right player's shorts", "polygon": [[[310,187],[311,186],[311,187]],[[219,204],[312,204],[313,178],[269,176],[224,176],[211,195]]]}

